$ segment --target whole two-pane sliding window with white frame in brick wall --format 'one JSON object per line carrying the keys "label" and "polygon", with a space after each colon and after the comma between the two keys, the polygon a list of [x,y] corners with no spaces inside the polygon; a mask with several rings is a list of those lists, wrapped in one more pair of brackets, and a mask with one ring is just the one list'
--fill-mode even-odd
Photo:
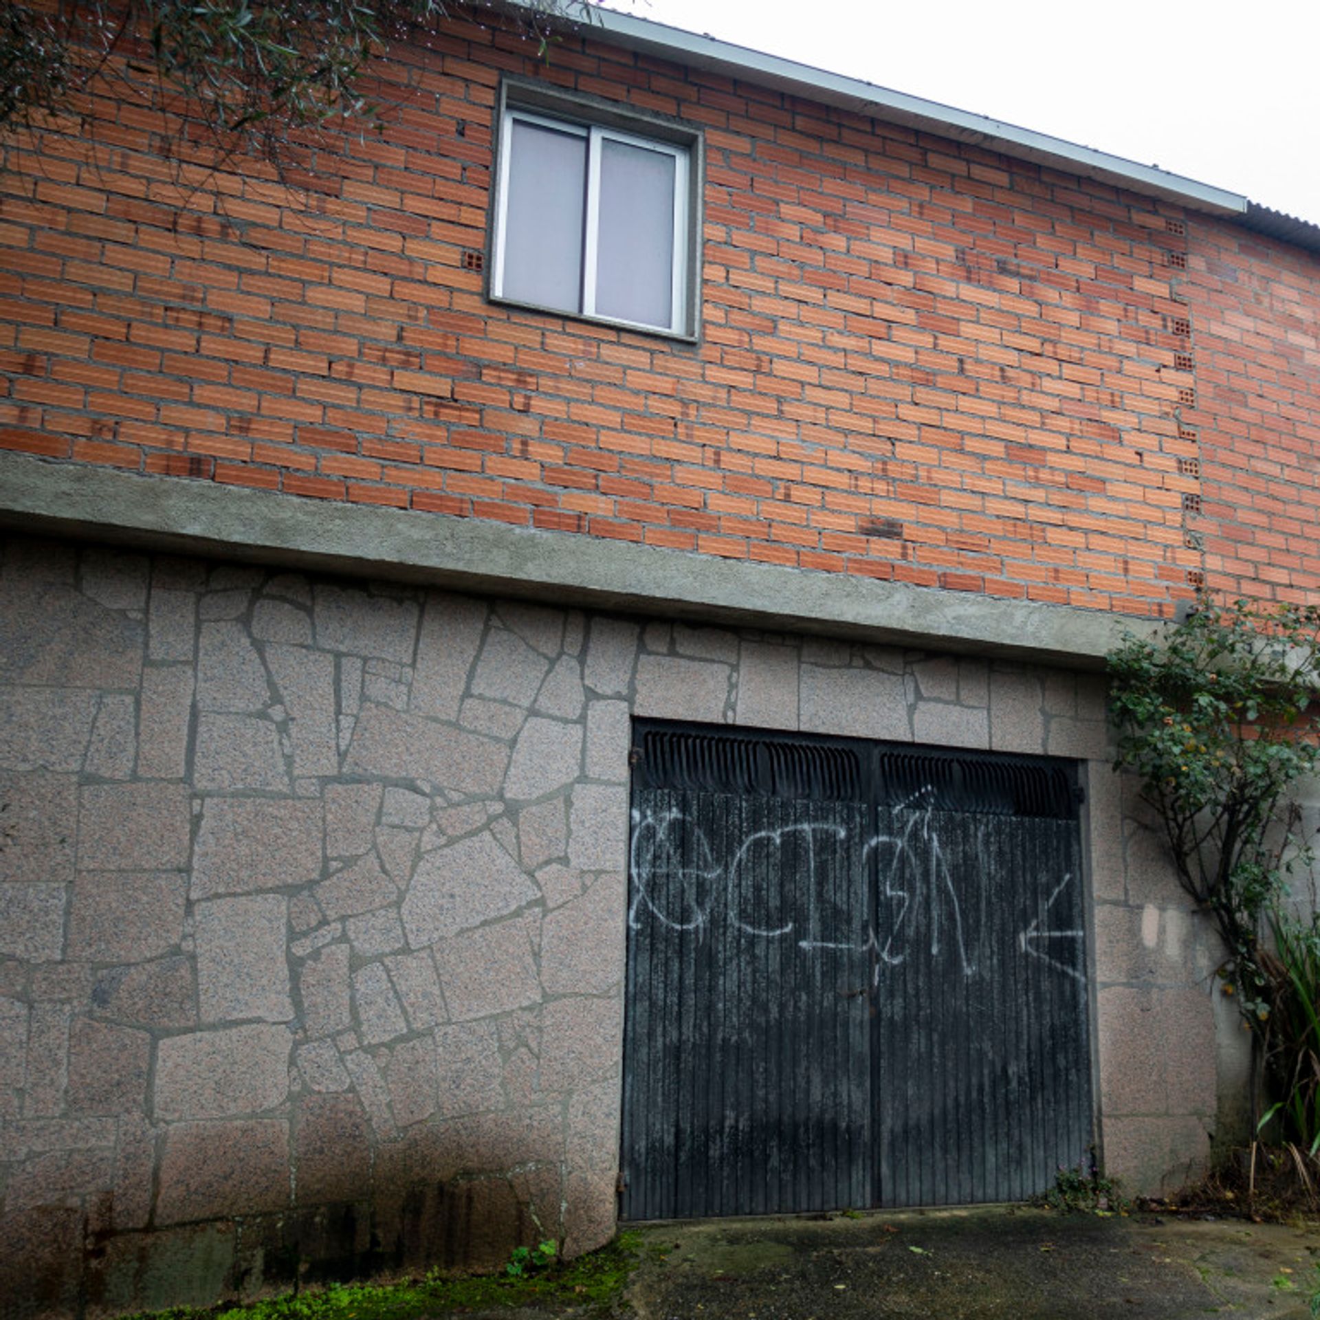
{"label": "whole two-pane sliding window with white frame in brick wall", "polygon": [[504,107],[491,296],[692,337],[694,135],[557,108]]}

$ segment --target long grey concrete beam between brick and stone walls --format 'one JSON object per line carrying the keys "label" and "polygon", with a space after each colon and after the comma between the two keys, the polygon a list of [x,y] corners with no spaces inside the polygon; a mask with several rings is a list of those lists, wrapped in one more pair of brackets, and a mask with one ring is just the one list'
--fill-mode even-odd
{"label": "long grey concrete beam between brick and stone walls", "polygon": [[0,524],[628,612],[1100,668],[1144,620],[0,453]]}

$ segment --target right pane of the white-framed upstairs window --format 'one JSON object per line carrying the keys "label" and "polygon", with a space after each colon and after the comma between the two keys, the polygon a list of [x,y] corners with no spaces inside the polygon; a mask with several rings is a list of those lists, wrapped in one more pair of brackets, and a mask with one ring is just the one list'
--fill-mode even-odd
{"label": "right pane of the white-framed upstairs window", "polygon": [[605,139],[595,310],[648,326],[673,323],[675,158]]}

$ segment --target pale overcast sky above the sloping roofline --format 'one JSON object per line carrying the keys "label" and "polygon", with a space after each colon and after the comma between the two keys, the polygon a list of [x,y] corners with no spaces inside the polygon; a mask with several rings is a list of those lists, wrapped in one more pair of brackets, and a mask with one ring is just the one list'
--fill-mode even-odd
{"label": "pale overcast sky above the sloping roofline", "polygon": [[610,0],[1320,223],[1320,0]]}

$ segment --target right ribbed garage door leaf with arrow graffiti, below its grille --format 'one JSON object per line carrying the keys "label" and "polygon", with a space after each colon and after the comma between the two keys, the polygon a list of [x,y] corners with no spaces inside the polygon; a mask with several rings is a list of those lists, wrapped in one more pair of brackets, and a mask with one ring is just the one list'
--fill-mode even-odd
{"label": "right ribbed garage door leaf with arrow graffiti, below its grille", "polygon": [[[1074,822],[883,810],[882,1205],[1019,1200],[1090,1144]],[[902,913],[902,915],[899,915]]]}

